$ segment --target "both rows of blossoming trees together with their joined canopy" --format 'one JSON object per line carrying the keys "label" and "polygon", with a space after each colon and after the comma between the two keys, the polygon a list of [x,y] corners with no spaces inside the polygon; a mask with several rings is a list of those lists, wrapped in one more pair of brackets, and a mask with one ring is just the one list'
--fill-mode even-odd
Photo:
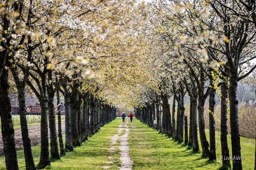
{"label": "both rows of blossoming trees together with their joined canopy", "polygon": [[[9,83],[12,83],[11,87],[17,90],[10,90],[19,94],[26,146],[29,138],[24,120],[25,89],[37,96],[42,108],[39,167],[49,164],[45,144],[47,121],[51,155],[59,158],[55,93],[63,94],[66,105],[70,103],[70,110],[67,108],[66,112],[74,116],[66,115],[66,119],[73,124],[70,130],[75,134],[74,145],[79,145],[77,132],[85,127],[78,119],[85,118],[85,122],[88,119],[79,114],[83,112],[81,105],[85,104],[89,110],[135,105],[141,108],[138,110],[141,114],[137,115],[141,115],[142,121],[152,125],[156,119],[161,132],[180,142],[183,126],[189,123],[189,133],[185,130],[185,134],[189,134],[188,144],[194,152],[199,151],[199,127],[202,153],[210,160],[216,160],[214,96],[217,93],[221,97],[222,155],[230,155],[227,142],[230,117],[232,157],[238,158],[232,160],[233,169],[241,170],[237,82],[245,78],[255,81],[249,76],[256,68],[253,62],[256,58],[255,8],[255,1],[243,0],[154,0],[152,3],[2,0],[0,116],[7,169],[18,169],[9,102]],[[184,109],[186,92],[190,96],[188,121]],[[175,102],[170,110],[171,96],[178,104],[176,121]],[[209,142],[204,130],[204,104],[208,97]],[[87,113],[94,112],[98,113]],[[98,123],[97,116],[90,118]],[[91,127],[94,126],[91,124]],[[24,151],[25,157],[28,156],[30,147],[24,147]],[[223,159],[223,167],[229,166],[230,161]]]}

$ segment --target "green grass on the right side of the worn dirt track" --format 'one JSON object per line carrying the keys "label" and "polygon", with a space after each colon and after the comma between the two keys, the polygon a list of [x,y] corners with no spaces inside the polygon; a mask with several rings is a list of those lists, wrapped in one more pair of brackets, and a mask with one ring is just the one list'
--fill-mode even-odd
{"label": "green grass on the right side of the worn dirt track", "polygon": [[[187,147],[148,128],[137,119],[134,119],[129,127],[128,142],[133,170],[216,170],[221,167],[219,132],[216,134],[217,162],[209,163],[207,159],[201,157],[200,153],[192,153]],[[209,131],[206,132],[209,139]],[[230,135],[228,138],[231,152]],[[254,169],[255,143],[253,141],[253,139],[241,138],[242,156],[245,157],[244,170]]]}

